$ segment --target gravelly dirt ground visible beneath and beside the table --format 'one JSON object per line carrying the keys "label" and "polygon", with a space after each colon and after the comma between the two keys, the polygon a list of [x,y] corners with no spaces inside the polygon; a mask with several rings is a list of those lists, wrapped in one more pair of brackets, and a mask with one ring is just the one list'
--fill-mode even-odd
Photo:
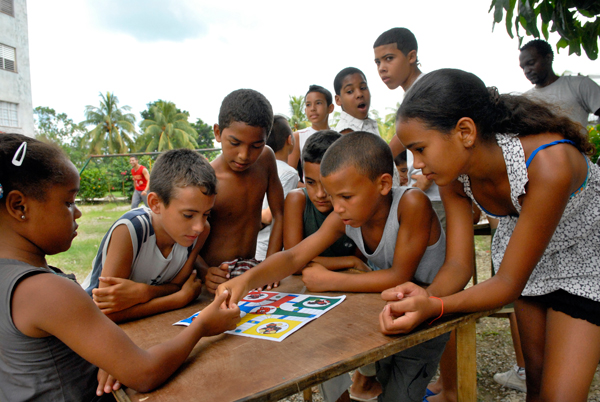
{"label": "gravelly dirt ground visible beneath and beside the table", "polygon": [[[477,252],[478,279],[490,276],[490,253]],[[493,380],[495,373],[504,372],[515,364],[510,326],[505,318],[484,318],[477,323],[477,392],[478,400],[525,402],[525,393],[504,388]],[[599,366],[600,367],[600,366]],[[302,402],[302,394],[296,394],[281,402]],[[313,401],[323,401],[317,387],[313,387]],[[588,396],[590,402],[600,402],[600,370],[596,369]]]}

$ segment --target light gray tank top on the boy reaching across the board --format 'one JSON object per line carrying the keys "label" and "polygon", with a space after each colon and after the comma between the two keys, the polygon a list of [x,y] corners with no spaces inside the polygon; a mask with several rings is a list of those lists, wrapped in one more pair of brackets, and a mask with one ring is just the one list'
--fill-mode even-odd
{"label": "light gray tank top on the boy reaching across the board", "polygon": [[[369,262],[374,264],[379,269],[388,269],[392,267],[394,262],[394,251],[396,249],[396,238],[398,237],[398,229],[400,224],[398,223],[398,203],[402,198],[402,195],[410,187],[393,187],[392,196],[393,201],[390,207],[390,213],[385,223],[383,235],[381,241],[377,246],[377,249],[372,254],[369,254],[365,250],[365,244],[362,237],[361,228],[353,228],[352,226],[346,226],[346,235],[354,240],[356,246],[360,251],[367,257]],[[421,262],[415,271],[415,280],[421,283],[430,284],[433,282],[433,278],[440,270],[440,267],[444,263],[446,258],[446,234],[441,231],[440,238],[435,244],[428,246],[421,258]]]}

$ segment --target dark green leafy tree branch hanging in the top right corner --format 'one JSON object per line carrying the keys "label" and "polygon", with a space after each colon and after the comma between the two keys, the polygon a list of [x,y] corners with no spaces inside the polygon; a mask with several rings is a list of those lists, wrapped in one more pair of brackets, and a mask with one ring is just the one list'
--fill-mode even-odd
{"label": "dark green leafy tree branch hanging in the top right corner", "polygon": [[549,32],[558,32],[561,38],[556,43],[557,50],[568,47],[569,55],[581,56],[583,47],[590,60],[598,58],[598,0],[492,0],[489,11],[492,10],[494,25],[505,19],[511,38],[514,38],[514,24],[519,46],[523,41],[519,27],[525,30],[525,35],[535,38],[539,38],[541,32],[546,40]]}

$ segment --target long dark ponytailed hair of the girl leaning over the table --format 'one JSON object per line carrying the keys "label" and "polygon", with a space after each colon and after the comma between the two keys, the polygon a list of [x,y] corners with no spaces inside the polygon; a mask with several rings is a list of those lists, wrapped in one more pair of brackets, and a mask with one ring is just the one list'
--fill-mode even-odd
{"label": "long dark ponytailed hair of the girl leaning over the table", "polygon": [[463,117],[475,122],[479,137],[486,142],[495,141],[496,133],[525,137],[551,132],[573,141],[581,152],[594,152],[581,126],[549,104],[526,96],[501,95],[462,70],[441,69],[425,75],[407,92],[397,114],[397,120],[418,119],[442,133],[449,133]]}

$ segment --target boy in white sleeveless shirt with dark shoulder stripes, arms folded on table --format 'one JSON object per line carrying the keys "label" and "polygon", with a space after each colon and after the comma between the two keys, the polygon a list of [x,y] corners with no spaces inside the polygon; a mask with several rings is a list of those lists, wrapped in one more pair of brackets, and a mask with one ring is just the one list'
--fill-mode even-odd
{"label": "boy in white sleeveless shirt with dark shoulder stripes, arms folded on table", "polygon": [[149,208],[113,224],[82,285],[116,322],[181,308],[202,287],[195,269],[210,232],[214,169],[198,153],[178,149],[158,158],[150,178]]}

